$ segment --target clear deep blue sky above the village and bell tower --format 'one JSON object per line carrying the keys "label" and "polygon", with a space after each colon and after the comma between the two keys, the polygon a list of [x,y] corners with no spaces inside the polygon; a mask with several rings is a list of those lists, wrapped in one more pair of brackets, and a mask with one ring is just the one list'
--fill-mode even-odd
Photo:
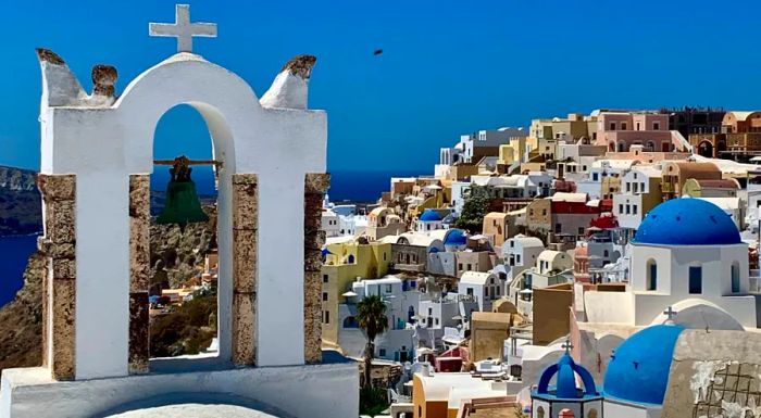
{"label": "clear deep blue sky above the village and bell tower", "polygon": [[[761,107],[758,0],[188,2],[194,21],[219,25],[195,51],[260,96],[290,56],[317,56],[310,105],[328,111],[334,172],[428,173],[460,134],[596,107]],[[0,164],[39,165],[35,47],[87,89],[93,64],[115,65],[121,91],[175,51],[147,35],[174,3],[5,2]],[[210,153],[192,112],[172,111],[157,135],[158,156]]]}

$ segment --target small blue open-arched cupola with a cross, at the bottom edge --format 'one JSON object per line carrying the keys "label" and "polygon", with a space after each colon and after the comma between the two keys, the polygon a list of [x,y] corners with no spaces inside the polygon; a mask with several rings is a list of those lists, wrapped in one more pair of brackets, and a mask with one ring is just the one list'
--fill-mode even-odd
{"label": "small blue open-arched cupola with a cross, at the bottom edge", "polygon": [[[554,390],[550,389],[549,383],[552,377],[558,375],[556,379]],[[584,390],[576,389],[576,375],[582,378]],[[539,378],[539,384],[536,388],[534,396],[553,397],[563,400],[581,400],[587,396],[597,396],[597,387],[591,373],[584,367],[577,365],[569,353],[563,354],[558,363],[545,369]]]}

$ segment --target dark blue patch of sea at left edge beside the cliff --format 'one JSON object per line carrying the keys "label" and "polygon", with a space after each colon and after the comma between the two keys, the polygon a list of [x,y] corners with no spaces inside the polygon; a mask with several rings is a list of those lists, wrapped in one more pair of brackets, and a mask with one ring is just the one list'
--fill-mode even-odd
{"label": "dark blue patch of sea at left edge beside the cliff", "polygon": [[24,286],[24,269],[37,248],[37,236],[0,238],[0,306]]}

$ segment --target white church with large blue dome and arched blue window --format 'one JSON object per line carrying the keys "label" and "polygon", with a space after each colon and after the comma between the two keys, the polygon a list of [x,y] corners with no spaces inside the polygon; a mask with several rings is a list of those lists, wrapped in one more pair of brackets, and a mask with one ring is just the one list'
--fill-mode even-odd
{"label": "white church with large blue dome and arched blue window", "polygon": [[629,254],[626,291],[585,292],[586,321],[658,325],[671,306],[678,313],[674,320],[686,328],[757,327],[756,299],[748,293],[748,244],[713,203],[685,198],[656,206]]}

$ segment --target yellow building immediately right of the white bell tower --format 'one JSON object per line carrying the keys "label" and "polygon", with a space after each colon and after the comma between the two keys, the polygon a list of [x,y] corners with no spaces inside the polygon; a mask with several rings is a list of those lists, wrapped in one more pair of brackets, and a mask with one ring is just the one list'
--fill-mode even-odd
{"label": "yellow building immediately right of the white bell tower", "polygon": [[372,242],[360,244],[342,242],[329,244],[321,268],[323,280],[323,342],[338,345],[338,305],[344,293],[351,290],[358,277],[377,279],[388,273],[391,263],[391,244]]}

